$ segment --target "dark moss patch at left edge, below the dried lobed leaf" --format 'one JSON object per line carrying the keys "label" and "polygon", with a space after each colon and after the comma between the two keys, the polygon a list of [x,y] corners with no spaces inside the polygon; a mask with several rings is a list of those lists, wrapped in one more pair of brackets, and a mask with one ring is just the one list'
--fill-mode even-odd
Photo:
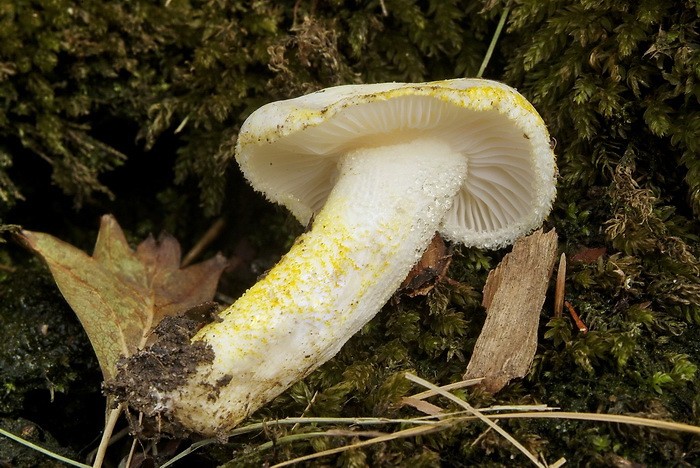
{"label": "dark moss patch at left edge, below the dried lobed leaf", "polygon": [[100,372],[50,275],[38,261],[18,267],[0,282],[0,304],[0,414],[42,421],[63,443],[89,441],[76,427],[99,430]]}

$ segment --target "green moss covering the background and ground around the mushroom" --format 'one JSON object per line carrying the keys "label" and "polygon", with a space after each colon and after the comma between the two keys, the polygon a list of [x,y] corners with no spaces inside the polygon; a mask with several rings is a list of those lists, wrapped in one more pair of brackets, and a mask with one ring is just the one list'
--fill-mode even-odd
{"label": "green moss covering the background and ground around the mushroom", "polygon": [[[226,185],[243,119],[265,102],[335,84],[473,76],[508,5],[486,76],[518,87],[558,142],[559,192],[547,226],[557,229],[561,249],[570,259],[588,248],[604,252],[589,263],[570,261],[567,272],[567,300],[588,334],[567,317],[552,319],[547,303],[530,374],[496,397],[458,393],[477,406],[537,402],[700,423],[697,1],[20,3],[0,7],[3,214],[18,216],[7,206],[24,196],[27,205],[18,207],[42,211],[22,219],[46,218],[44,207],[54,206],[47,200],[55,194],[36,192],[34,177],[19,171],[32,168],[34,176],[33,166],[41,164],[78,204],[96,200],[103,210],[138,205],[133,216],[143,219],[127,224],[142,234],[163,224],[192,241],[206,228],[197,221],[218,213],[226,199],[226,236],[249,237],[262,270],[303,228],[265,208],[241,188],[240,177]],[[130,131],[100,130],[115,119]],[[167,186],[142,182],[144,198],[158,203],[105,202],[105,194],[119,193],[119,181],[108,173],[120,164],[120,170],[140,167],[133,165],[135,153],[125,159],[114,151],[137,133],[139,144],[151,148],[140,157],[172,153],[162,159],[170,164]],[[56,216],[52,227],[64,232],[66,216],[96,218],[85,210]],[[216,248],[234,250],[224,241]],[[400,401],[421,389],[402,372],[438,384],[461,378],[484,321],[479,291],[503,254],[458,248],[450,277],[461,286],[439,285],[427,298],[393,301],[338,356],[252,419],[415,415]],[[21,287],[7,297],[23,313],[39,314],[36,320],[54,320],[51,327],[73,327],[65,310],[56,315],[45,308],[47,301],[28,302],[34,294],[56,301],[43,295],[46,284],[27,287],[34,273],[18,269],[24,279],[12,284]],[[252,280],[262,271],[249,273]],[[2,275],[7,281],[9,275]],[[223,289],[235,296],[240,287]],[[26,363],[8,361],[10,390],[0,402],[17,411],[29,389],[48,395],[45,375],[54,390],[73,389],[74,365],[58,359],[61,353],[43,352],[67,342],[49,346],[26,322],[12,323],[8,327],[26,338],[5,345],[22,352]],[[74,351],[60,349],[63,355]],[[435,402],[452,408],[443,399]],[[577,421],[502,424],[548,461],[564,456],[573,466],[700,463],[697,440],[683,434]],[[231,464],[260,466],[343,443],[323,437],[251,451],[270,439],[323,428],[270,425],[264,434],[236,438],[209,456],[225,463],[233,452]],[[484,431],[465,424],[317,464],[511,466],[522,460],[505,440]]]}

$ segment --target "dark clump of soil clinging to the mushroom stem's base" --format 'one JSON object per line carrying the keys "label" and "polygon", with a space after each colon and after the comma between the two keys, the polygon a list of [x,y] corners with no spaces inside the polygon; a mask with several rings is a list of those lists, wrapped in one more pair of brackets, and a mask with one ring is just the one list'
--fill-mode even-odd
{"label": "dark clump of soil clinging to the mushroom stem's base", "polygon": [[[159,438],[162,433],[173,437],[189,435],[169,416],[168,401],[160,399],[159,394],[184,385],[197,366],[214,360],[209,345],[190,342],[201,327],[200,320],[187,315],[164,318],[154,330],[157,338],[153,345],[122,359],[117,364],[115,378],[105,382],[106,393],[126,403],[130,410],[144,414],[141,422],[129,418],[132,429],[140,437]],[[212,395],[216,393],[217,388],[212,388]]]}

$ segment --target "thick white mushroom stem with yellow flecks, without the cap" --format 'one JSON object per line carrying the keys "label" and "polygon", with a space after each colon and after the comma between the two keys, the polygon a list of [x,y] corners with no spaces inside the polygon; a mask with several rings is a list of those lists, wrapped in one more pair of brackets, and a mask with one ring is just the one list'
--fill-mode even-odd
{"label": "thick white mushroom stem with yellow flecks, without the cap", "polygon": [[225,433],[336,354],[428,246],[466,165],[434,139],[343,156],[313,229],[193,338],[211,346],[214,361],[159,396],[171,417],[203,434]]}

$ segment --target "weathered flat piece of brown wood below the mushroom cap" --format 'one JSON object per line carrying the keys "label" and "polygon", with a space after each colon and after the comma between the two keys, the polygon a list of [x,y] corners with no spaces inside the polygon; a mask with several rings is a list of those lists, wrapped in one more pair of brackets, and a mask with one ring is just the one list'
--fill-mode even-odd
{"label": "weathered flat piece of brown wood below the mushroom cap", "polygon": [[557,254],[554,229],[519,239],[484,286],[486,322],[465,379],[484,377],[491,393],[527,374],[537,349],[537,327]]}

